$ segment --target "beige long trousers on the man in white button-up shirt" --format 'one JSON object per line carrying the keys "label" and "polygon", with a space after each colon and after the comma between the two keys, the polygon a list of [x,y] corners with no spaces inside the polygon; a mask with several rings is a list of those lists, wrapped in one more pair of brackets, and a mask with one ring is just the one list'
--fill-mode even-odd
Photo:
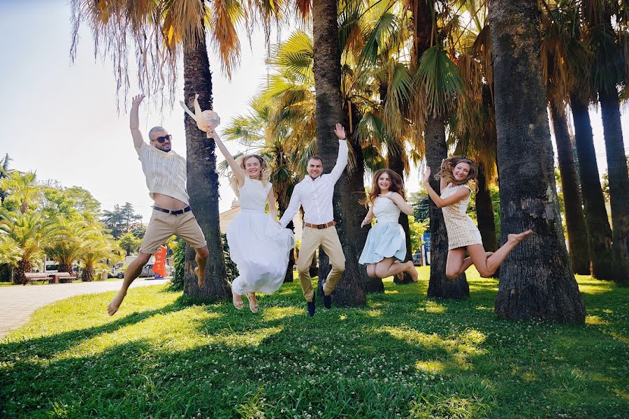
{"label": "beige long trousers on the man in white button-up shirt", "polygon": [[326,255],[330,258],[332,270],[328,274],[328,278],[324,284],[324,293],[330,295],[341,275],[345,271],[345,255],[338,240],[338,234],[335,227],[328,228],[312,228],[304,227],[301,235],[301,247],[299,249],[299,257],[297,258],[297,270],[299,272],[299,283],[303,290],[303,296],[306,301],[312,301],[315,296],[315,290],[312,289],[312,281],[310,279],[310,263],[312,256],[315,256],[317,247],[323,247]]}

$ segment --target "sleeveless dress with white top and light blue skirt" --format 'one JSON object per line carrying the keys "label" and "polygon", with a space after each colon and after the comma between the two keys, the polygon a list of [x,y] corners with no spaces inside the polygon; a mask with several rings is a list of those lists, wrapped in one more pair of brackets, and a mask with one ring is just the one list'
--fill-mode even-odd
{"label": "sleeveless dress with white top and light blue skirt", "polygon": [[406,236],[398,223],[400,208],[389,198],[375,198],[373,214],[377,220],[369,230],[359,263],[378,263],[384,258],[406,258]]}

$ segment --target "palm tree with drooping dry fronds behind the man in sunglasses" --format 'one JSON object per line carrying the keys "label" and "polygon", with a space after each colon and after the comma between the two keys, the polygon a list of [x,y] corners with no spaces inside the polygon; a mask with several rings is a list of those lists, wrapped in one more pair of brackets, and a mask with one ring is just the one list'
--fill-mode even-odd
{"label": "palm tree with drooping dry fronds behind the man in sunglasses", "polygon": [[[87,22],[94,35],[96,49],[104,48],[110,53],[117,68],[117,87],[129,89],[128,61],[131,43],[138,50],[138,82],[147,93],[169,93],[169,103],[175,102],[177,60],[183,56],[184,96],[191,103],[199,94],[203,109],[212,109],[212,79],[205,45],[205,31],[217,46],[223,70],[230,75],[238,64],[240,43],[236,34],[236,20],[247,19],[247,10],[240,3],[215,2],[208,6],[204,1],[120,1],[102,3],[90,0],[72,0],[73,47],[78,40],[81,22]],[[267,13],[270,5],[250,3],[257,11]],[[266,8],[266,9],[265,9]],[[275,9],[273,9],[275,10]],[[277,12],[279,13],[279,9]],[[266,17],[265,17],[266,19]],[[268,22],[268,19],[265,20]],[[164,96],[162,96],[162,103]],[[222,257],[222,245],[218,228],[218,175],[216,174],[215,143],[199,131],[191,119],[184,116],[187,145],[188,192],[191,206],[195,207],[196,219],[208,241],[208,267],[203,288],[196,286],[196,279],[188,273],[185,278],[185,293],[203,300],[223,300],[229,297],[226,270]],[[198,185],[204,185],[198,187]],[[188,249],[187,272],[191,272],[194,251]]]}

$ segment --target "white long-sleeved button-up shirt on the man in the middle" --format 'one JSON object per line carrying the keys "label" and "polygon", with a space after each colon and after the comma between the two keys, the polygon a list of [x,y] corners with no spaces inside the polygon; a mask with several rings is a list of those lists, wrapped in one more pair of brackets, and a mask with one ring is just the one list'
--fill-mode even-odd
{"label": "white long-sleeved button-up shirt on the man in the middle", "polygon": [[303,178],[291,195],[291,202],[280,219],[282,227],[286,227],[293,219],[299,205],[303,206],[303,221],[311,224],[325,224],[334,219],[332,196],[334,185],[347,166],[347,140],[338,140],[338,157],[331,172],[317,179],[310,176]]}

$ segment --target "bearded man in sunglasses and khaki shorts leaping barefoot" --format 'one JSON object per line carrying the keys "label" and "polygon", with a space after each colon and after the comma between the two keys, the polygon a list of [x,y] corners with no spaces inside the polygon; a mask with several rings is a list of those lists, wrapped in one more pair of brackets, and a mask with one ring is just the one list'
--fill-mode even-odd
{"label": "bearded man in sunglasses and khaki shorts leaping barefoot", "polygon": [[209,256],[203,231],[198,226],[188,202],[186,159],[171,150],[172,135],[161,126],[151,128],[148,144],[142,138],[138,110],[143,98],[142,94],[133,96],[129,127],[138,159],[142,162],[149,196],[155,205],[138,257],[126,268],[122,288],[107,307],[110,316],[118,310],[131,282],[140,276],[151,255],[171,235],[180,237],[194,247],[197,265],[194,273],[198,278],[199,288],[203,286],[205,264]]}

